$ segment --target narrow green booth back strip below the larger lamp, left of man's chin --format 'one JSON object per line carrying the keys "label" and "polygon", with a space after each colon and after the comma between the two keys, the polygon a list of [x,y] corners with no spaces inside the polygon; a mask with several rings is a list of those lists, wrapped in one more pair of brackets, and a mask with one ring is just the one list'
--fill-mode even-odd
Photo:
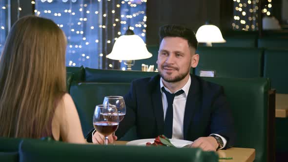
{"label": "narrow green booth back strip below the larger lamp, left of man's chin", "polygon": [[152,77],[158,72],[102,70],[85,68],[85,82],[131,82],[135,79]]}

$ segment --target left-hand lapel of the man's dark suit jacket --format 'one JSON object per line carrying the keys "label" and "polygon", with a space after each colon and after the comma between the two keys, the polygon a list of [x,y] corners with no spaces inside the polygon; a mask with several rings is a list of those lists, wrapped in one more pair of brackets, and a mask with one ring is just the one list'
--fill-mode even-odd
{"label": "left-hand lapel of the man's dark suit jacket", "polygon": [[160,91],[160,76],[153,77],[150,81],[150,92],[152,97],[152,106],[156,118],[158,135],[164,132],[164,112],[162,105],[162,94]]}

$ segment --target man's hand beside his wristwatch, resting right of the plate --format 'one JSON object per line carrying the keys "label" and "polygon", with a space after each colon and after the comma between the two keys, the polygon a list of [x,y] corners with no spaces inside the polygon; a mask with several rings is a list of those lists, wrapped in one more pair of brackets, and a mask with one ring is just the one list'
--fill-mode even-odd
{"label": "man's hand beside his wristwatch, resting right of the plate", "polygon": [[191,144],[191,147],[199,147],[204,151],[216,151],[218,146],[219,144],[217,143],[216,139],[210,136],[200,137]]}

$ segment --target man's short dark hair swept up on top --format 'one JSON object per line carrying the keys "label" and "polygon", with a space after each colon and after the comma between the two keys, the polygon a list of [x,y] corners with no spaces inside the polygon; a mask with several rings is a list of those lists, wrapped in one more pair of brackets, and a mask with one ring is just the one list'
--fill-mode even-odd
{"label": "man's short dark hair swept up on top", "polygon": [[190,47],[197,49],[198,41],[195,33],[184,26],[180,25],[164,25],[159,29],[160,43],[165,37],[181,37],[188,41]]}

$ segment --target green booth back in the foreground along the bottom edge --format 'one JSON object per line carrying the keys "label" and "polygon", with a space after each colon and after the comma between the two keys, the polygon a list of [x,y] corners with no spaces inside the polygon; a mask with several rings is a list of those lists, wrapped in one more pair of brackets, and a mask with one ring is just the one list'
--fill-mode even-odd
{"label": "green booth back in the foreground along the bottom edge", "polygon": [[218,162],[199,148],[141,147],[23,141],[20,162]]}

